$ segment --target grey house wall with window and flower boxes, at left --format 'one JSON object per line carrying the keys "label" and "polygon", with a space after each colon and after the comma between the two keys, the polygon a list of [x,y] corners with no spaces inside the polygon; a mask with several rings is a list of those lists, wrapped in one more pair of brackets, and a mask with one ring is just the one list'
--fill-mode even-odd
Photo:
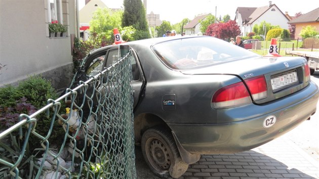
{"label": "grey house wall with window and flower boxes, at left", "polygon": [[[0,87],[42,74],[62,88],[73,77],[72,38],[77,36],[77,1],[1,1]],[[49,23],[68,26],[66,37],[49,37]]]}

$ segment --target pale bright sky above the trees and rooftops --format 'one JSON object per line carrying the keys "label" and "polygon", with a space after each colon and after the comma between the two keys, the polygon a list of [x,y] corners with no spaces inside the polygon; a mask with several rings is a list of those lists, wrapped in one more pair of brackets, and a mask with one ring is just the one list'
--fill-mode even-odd
{"label": "pale bright sky above the trees and rooftops", "polygon": [[[83,8],[85,0],[78,1],[79,9]],[[123,0],[102,0],[102,2],[108,8],[123,8]],[[298,12],[305,14],[319,7],[317,0],[273,0],[271,2],[283,13],[288,12],[290,16],[294,16]],[[171,24],[181,22],[184,18],[192,20],[196,15],[207,13],[216,14],[217,17],[223,17],[228,14],[230,19],[233,20],[237,7],[258,8],[268,5],[269,0],[148,0],[147,14],[151,11],[154,14],[160,14],[162,21],[170,21]]]}

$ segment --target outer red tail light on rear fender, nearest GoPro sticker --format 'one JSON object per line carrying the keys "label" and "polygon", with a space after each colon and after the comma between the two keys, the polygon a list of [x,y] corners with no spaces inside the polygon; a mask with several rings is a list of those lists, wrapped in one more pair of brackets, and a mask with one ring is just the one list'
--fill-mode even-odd
{"label": "outer red tail light on rear fender, nearest GoPro sticker", "polygon": [[214,108],[230,108],[248,103],[251,103],[251,98],[243,82],[218,89],[212,99]]}

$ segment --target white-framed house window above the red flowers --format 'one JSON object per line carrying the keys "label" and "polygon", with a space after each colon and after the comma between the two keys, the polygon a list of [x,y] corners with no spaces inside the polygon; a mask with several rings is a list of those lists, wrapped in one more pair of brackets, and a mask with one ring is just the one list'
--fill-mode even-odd
{"label": "white-framed house window above the red flowers", "polygon": [[47,0],[48,1],[48,20],[49,23],[58,21],[62,24],[62,0]]}

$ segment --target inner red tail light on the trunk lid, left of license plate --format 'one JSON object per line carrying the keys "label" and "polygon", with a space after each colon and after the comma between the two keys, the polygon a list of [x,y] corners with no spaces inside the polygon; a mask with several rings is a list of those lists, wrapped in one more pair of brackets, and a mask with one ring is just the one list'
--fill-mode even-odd
{"label": "inner red tail light on the trunk lid, left of license plate", "polygon": [[267,98],[267,83],[263,75],[245,80],[254,101]]}

